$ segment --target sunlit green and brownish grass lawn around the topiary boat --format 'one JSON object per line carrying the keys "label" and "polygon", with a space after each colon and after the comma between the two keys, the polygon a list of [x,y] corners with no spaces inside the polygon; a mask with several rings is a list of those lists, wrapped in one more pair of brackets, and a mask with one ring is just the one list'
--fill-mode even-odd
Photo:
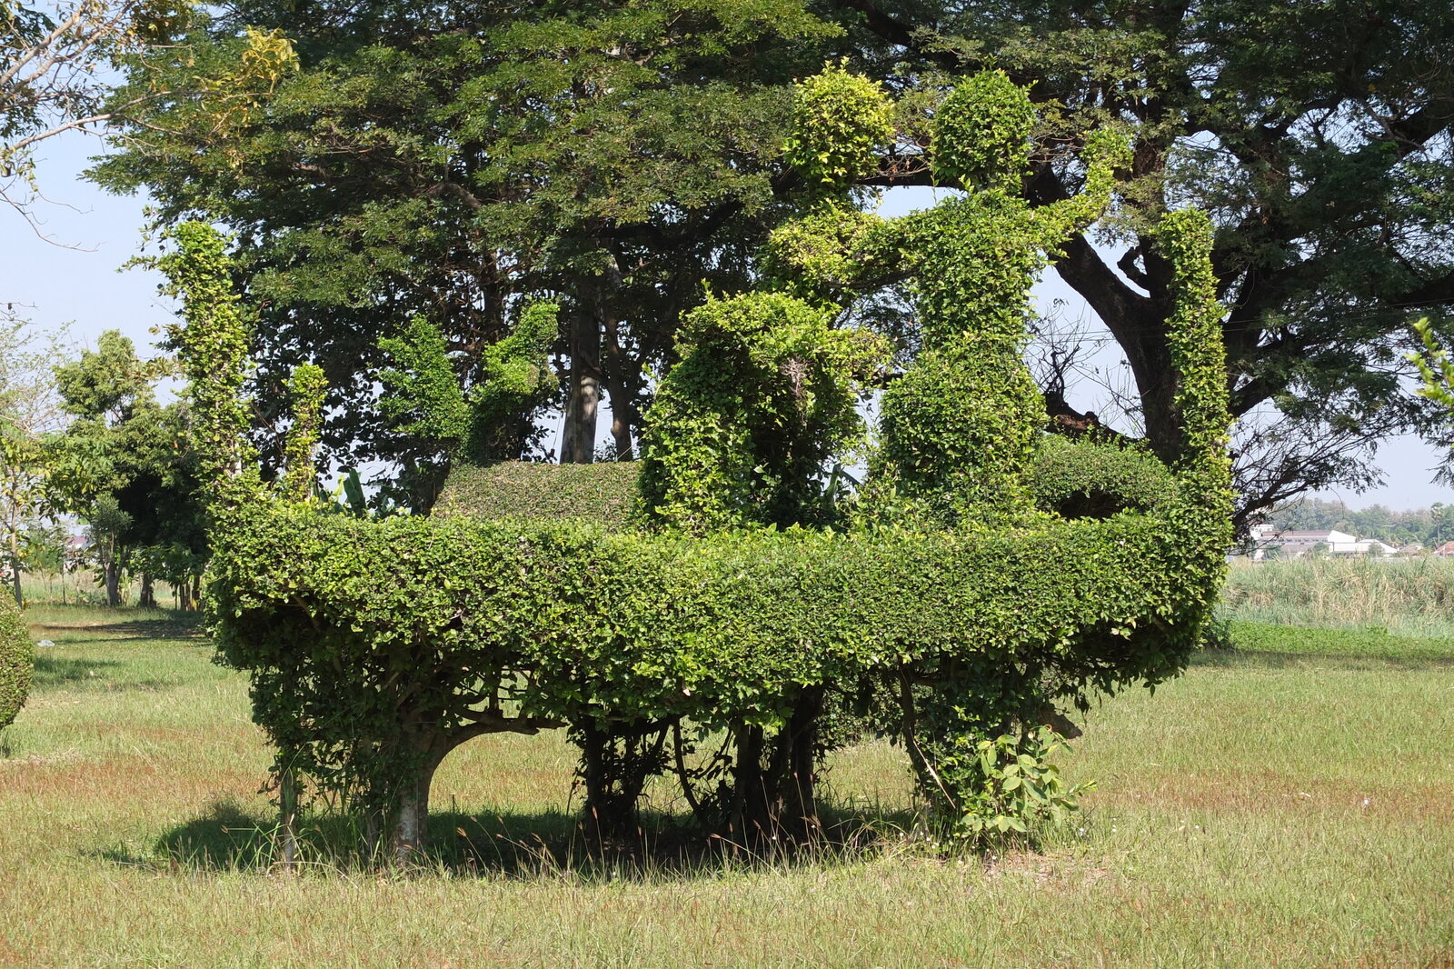
{"label": "sunlit green and brownish grass lawn around the topiary boat", "polygon": [[903,757],[874,743],[829,777],[888,818],[862,850],[547,860],[573,754],[486,738],[441,771],[432,870],[285,876],[246,682],[185,617],[28,620],[57,645],[0,736],[4,966],[1454,966],[1454,640],[1243,626],[1086,717],[1066,767],[1099,787],[1043,854],[897,837]]}

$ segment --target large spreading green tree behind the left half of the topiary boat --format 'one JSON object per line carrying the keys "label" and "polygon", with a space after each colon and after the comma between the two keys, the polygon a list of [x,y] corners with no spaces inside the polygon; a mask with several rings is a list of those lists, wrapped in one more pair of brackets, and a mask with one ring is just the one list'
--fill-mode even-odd
{"label": "large spreading green tree behind the left half of the topiary boat", "polygon": [[[208,77],[240,63],[241,25],[285,31],[297,63],[238,105]],[[832,33],[797,0],[249,1],[198,25],[173,63],[137,67],[124,100],[196,93],[158,102],[99,176],[147,186],[163,220],[237,231],[256,384],[323,365],[333,460],[438,466],[441,447],[394,434],[377,406],[381,340],[427,319],[471,387],[534,297],[561,306],[560,457],[592,460],[601,391],[628,455],[643,367],[704,284],[747,282],[778,221],[788,83]]]}

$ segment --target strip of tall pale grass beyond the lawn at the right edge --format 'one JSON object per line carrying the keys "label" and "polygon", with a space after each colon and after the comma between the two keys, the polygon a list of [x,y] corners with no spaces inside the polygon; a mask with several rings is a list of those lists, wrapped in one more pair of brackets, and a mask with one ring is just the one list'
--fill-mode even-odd
{"label": "strip of tall pale grass beyond the lawn at the right edge", "polygon": [[1454,560],[1243,562],[1227,575],[1223,615],[1282,626],[1383,626],[1454,636]]}

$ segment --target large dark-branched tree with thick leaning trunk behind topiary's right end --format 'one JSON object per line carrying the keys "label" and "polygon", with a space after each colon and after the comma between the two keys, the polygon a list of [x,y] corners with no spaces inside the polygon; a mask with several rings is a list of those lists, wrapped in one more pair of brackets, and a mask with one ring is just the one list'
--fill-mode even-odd
{"label": "large dark-branched tree with thick leaning trunk behind topiary's right end", "polygon": [[[833,0],[891,68],[1005,67],[1048,109],[1047,140],[1134,125],[1121,217],[1072,237],[1061,278],[1125,352],[1144,429],[1176,413],[1169,269],[1147,231],[1195,204],[1217,221],[1242,515],[1375,480],[1378,439],[1429,429],[1400,390],[1406,323],[1454,301],[1454,12],[1407,0],[996,3]],[[1054,113],[1059,112],[1059,118]],[[875,182],[929,183],[916,150]],[[1080,173],[1047,154],[1038,204]]]}

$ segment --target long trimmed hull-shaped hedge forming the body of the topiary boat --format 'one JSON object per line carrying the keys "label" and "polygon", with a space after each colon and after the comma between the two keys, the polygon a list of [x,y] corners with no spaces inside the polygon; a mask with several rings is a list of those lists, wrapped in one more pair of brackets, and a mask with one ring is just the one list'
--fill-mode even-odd
{"label": "long trimmed hull-shaped hedge forming the body of the topiary boat", "polygon": [[1173,489],[1150,515],[1013,533],[692,538],[275,505],[220,538],[211,595],[221,655],[250,671],[289,764],[388,800],[490,710],[781,726],[803,690],[865,672],[973,671],[961,703],[1000,711],[1159,682],[1214,594],[1165,579],[1214,573],[1201,515]]}

